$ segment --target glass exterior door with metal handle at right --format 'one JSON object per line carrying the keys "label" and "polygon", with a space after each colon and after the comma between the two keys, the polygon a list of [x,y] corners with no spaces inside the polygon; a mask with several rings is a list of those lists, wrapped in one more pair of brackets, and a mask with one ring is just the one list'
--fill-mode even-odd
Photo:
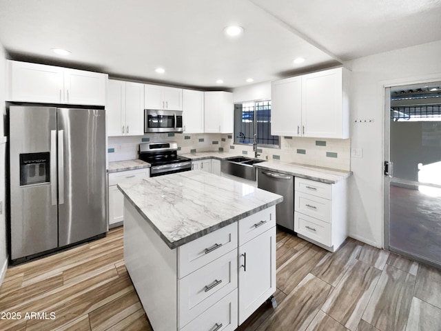
{"label": "glass exterior door with metal handle at right", "polygon": [[385,90],[384,246],[441,268],[441,82]]}

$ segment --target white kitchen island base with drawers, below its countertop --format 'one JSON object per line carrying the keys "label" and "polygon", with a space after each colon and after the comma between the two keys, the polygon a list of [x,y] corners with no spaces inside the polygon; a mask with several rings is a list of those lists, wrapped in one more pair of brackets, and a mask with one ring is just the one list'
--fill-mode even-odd
{"label": "white kitchen island base with drawers, below its countertop", "polygon": [[124,207],[124,260],[155,331],[236,330],[276,292],[275,206],[173,250]]}

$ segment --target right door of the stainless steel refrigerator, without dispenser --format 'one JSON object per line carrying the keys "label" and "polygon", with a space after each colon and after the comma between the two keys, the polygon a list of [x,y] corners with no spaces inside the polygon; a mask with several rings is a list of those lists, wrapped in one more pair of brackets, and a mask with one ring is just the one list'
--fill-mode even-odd
{"label": "right door of the stainless steel refrigerator, without dispenser", "polygon": [[105,111],[59,108],[59,245],[107,231]]}

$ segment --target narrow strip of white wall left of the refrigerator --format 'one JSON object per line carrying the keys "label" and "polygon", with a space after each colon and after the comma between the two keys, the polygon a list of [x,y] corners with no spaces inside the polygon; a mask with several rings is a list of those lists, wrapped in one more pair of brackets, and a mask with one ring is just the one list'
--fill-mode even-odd
{"label": "narrow strip of white wall left of the refrigerator", "polygon": [[0,215],[0,285],[8,268],[8,250],[6,244],[6,218],[5,218],[5,177],[6,160],[3,157],[6,149],[6,137],[4,136],[4,114],[6,99],[6,52],[0,44],[0,201],[2,204],[2,214]]}

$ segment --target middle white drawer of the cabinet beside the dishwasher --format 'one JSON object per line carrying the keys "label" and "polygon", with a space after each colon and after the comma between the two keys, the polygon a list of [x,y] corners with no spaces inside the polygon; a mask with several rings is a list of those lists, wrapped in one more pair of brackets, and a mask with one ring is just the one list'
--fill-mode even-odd
{"label": "middle white drawer of the cabinet beside the dishwasher", "polygon": [[303,192],[296,192],[294,210],[321,221],[331,221],[331,201]]}

